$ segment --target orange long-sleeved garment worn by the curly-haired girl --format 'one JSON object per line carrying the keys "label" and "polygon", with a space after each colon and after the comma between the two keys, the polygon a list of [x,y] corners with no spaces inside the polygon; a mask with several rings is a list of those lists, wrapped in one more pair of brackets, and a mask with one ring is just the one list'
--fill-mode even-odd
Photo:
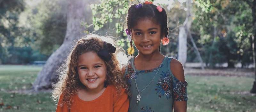
{"label": "orange long-sleeved garment worn by the curly-haired girl", "polygon": [[127,112],[129,108],[128,95],[124,89],[117,95],[117,89],[113,85],[108,85],[105,91],[92,101],[81,100],[78,95],[72,96],[71,108],[67,103],[60,106],[63,95],[60,95],[56,112]]}

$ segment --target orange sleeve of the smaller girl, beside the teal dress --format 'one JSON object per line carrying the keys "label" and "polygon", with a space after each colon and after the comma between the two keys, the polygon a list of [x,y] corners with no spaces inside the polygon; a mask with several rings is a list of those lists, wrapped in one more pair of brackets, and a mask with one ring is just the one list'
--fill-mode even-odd
{"label": "orange sleeve of the smaller girl, beside the teal dress", "polygon": [[114,96],[113,112],[128,112],[129,99],[124,89],[122,89],[120,95]]}

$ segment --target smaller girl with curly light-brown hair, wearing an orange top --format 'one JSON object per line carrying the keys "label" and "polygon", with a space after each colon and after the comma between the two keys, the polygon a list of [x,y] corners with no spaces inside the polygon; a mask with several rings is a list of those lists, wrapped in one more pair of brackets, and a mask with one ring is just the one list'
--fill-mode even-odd
{"label": "smaller girl with curly light-brown hair, wearing an orange top", "polygon": [[52,94],[55,100],[59,98],[56,112],[128,111],[116,48],[102,39],[111,40],[97,35],[83,37],[70,52],[67,69],[60,72]]}

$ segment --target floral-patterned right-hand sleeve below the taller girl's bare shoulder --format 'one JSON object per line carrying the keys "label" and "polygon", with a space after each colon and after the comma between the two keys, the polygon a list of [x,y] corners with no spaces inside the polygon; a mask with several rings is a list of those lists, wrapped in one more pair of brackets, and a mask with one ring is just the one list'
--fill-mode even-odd
{"label": "floral-patterned right-hand sleeve below the taller girl's bare shoulder", "polygon": [[186,101],[188,100],[188,95],[186,93],[187,82],[177,81],[173,84],[173,98],[174,101]]}

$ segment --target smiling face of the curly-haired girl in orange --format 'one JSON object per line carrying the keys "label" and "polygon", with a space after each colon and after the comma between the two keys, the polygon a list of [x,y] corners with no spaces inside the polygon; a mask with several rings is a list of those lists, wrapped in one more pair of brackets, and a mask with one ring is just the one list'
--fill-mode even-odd
{"label": "smiling face of the curly-haired girl in orange", "polygon": [[100,91],[107,76],[106,63],[95,52],[86,52],[78,57],[79,79],[87,90]]}

